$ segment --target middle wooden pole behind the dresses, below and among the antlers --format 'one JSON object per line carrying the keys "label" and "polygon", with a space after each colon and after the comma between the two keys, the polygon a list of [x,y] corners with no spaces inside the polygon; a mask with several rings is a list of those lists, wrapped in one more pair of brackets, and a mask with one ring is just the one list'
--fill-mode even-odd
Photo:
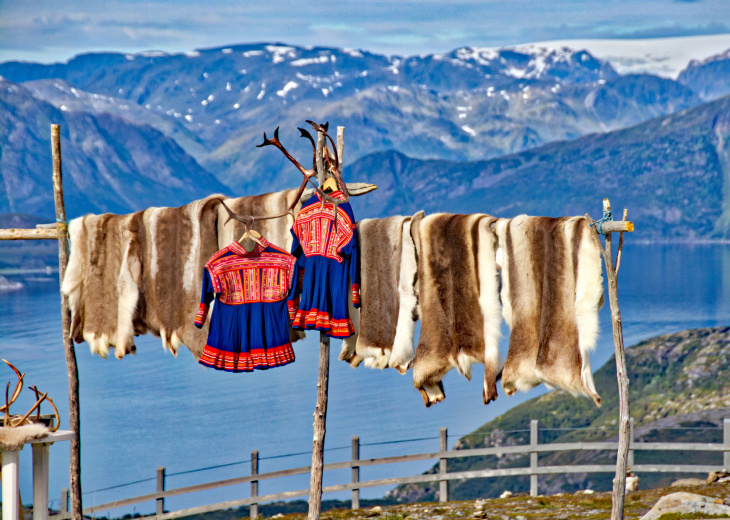
{"label": "middle wooden pole behind the dresses, below and among the antlers", "polygon": [[[345,128],[337,127],[337,165],[342,175],[342,150],[344,147]],[[324,170],[325,137],[317,133],[317,182],[320,186],[325,181]],[[324,436],[327,422],[327,394],[329,389],[330,370],[330,337],[319,333],[319,375],[317,377],[317,407],[314,410],[314,440],[312,441],[312,472],[309,479],[309,516],[308,520],[319,520],[322,510],[322,472],[324,469]]]}

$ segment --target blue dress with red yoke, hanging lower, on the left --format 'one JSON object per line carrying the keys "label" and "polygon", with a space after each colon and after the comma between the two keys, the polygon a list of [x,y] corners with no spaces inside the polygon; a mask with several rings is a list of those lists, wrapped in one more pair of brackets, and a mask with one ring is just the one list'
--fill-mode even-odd
{"label": "blue dress with red yoke, hanging lower, on the left", "polygon": [[200,364],[228,372],[250,372],[294,361],[287,297],[293,297],[296,258],[265,238],[253,251],[233,242],[214,254],[203,270],[195,326],[216,304]]}

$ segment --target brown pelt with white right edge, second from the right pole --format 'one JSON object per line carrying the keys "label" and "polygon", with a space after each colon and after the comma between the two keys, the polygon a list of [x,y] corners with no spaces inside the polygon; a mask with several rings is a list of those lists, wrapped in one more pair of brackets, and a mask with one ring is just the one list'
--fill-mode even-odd
{"label": "brown pelt with white right edge, second from the right pole", "polygon": [[497,398],[502,319],[495,221],[440,213],[411,224],[421,314],[413,384],[426,406],[444,399],[441,380],[449,370],[471,378],[473,363],[484,363],[484,403]]}

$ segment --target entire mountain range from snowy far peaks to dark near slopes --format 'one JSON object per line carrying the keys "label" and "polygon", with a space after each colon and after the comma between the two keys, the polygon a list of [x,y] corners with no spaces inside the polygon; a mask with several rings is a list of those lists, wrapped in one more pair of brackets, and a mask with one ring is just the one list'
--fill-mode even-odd
{"label": "entire mountain range from snowy far peaks to dark near slopes", "polygon": [[[703,112],[710,117],[724,108],[712,103],[730,92],[727,53],[690,63],[676,80],[620,75],[607,61],[569,48],[464,47],[387,57],[267,43],[183,54],[89,53],[51,65],[7,62],[0,75],[0,212],[52,215],[51,122],[62,125],[68,213],[76,216],[296,185],[299,174],[281,153],[255,145],[280,127],[284,146],[307,166],[311,147],[296,127],[314,119],[345,126],[351,180],[381,186],[368,196],[363,216],[410,211],[413,199],[423,209],[499,216],[584,213],[594,198],[615,193],[631,204],[632,218],[648,215],[649,239],[668,230],[717,237],[725,229],[718,225],[725,222],[721,190],[700,208],[695,195],[683,194],[682,173],[691,164],[712,189],[723,185],[722,125],[711,126],[719,136],[703,134],[699,148],[707,154],[685,143],[672,152],[678,166],[670,161],[673,168],[665,170],[664,144],[646,133],[654,127],[641,124],[660,121],[657,128],[691,139],[694,133],[681,127],[683,111],[710,103]],[[677,118],[666,119],[670,114]],[[578,153],[587,143],[601,152],[594,146],[588,156]],[[648,148],[637,152],[642,146]],[[655,162],[642,159],[646,154]],[[598,175],[602,165],[611,169],[609,178]],[[550,182],[551,171],[579,179],[570,189],[541,184]],[[394,191],[381,179],[395,174]],[[591,177],[609,191],[596,193]],[[634,199],[621,192],[632,192],[636,179],[653,190],[648,208],[643,199],[636,204],[636,189]],[[510,191],[508,183],[519,186]],[[697,225],[676,217],[686,209],[701,209]]]}

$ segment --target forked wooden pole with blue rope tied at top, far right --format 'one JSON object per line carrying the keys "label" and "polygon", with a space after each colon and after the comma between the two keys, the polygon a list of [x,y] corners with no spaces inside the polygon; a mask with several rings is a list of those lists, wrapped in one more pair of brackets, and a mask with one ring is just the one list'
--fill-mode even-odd
{"label": "forked wooden pole with blue rope tied at top, far right", "polygon": [[[610,211],[611,203],[603,199],[603,210]],[[587,216],[587,215],[586,215]],[[624,352],[624,334],[621,325],[621,311],[618,307],[618,269],[621,265],[621,253],[624,242],[624,231],[633,231],[634,225],[626,221],[627,212],[624,210],[623,220],[602,225],[602,231],[606,235],[606,247],[601,245],[598,238],[598,230],[594,226],[593,236],[598,242],[603,253],[603,260],[606,263],[606,276],[608,276],[608,299],[611,304],[611,322],[613,324],[613,345],[616,352],[616,378],[618,379],[619,397],[619,420],[618,420],[618,453],[616,454],[616,477],[613,479],[613,503],[611,505],[611,520],[623,520],[624,502],[626,501],[626,469],[629,459],[629,443],[631,442],[629,428],[629,376],[626,369],[626,355]],[[590,217],[589,217],[590,218]],[[616,267],[613,265],[613,240],[612,232],[619,232],[621,236],[618,243],[616,255]]]}

